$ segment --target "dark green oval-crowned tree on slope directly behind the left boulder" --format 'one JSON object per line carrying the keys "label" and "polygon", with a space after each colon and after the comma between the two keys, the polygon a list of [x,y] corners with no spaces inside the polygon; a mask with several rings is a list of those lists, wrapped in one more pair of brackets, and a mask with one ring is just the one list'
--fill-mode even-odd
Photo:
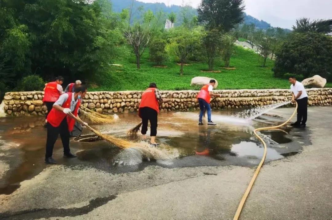
{"label": "dark green oval-crowned tree on slope directly behind the left boulder", "polygon": [[208,70],[213,70],[214,59],[220,54],[221,36],[218,30],[207,31],[202,37],[203,55],[208,64]]}

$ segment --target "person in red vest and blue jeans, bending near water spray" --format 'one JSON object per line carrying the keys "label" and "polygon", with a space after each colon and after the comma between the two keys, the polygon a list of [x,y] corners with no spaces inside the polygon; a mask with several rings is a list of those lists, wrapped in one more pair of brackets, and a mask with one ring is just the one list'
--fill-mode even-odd
{"label": "person in red vest and blue jeans, bending near water spray", "polygon": [[215,85],[215,80],[211,79],[210,83],[204,85],[201,91],[197,95],[198,103],[200,104],[200,118],[199,118],[199,125],[203,125],[203,114],[204,110],[207,110],[207,125],[216,125],[211,121],[211,106],[210,106],[210,99],[211,96],[220,97],[219,94],[213,94],[213,86]]}

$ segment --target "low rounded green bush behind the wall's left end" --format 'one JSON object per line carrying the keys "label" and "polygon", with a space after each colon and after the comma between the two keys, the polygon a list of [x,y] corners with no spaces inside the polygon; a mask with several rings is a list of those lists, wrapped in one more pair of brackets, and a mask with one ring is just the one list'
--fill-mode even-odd
{"label": "low rounded green bush behind the wall's left end", "polygon": [[17,84],[17,91],[41,91],[45,87],[44,80],[38,75],[22,78]]}

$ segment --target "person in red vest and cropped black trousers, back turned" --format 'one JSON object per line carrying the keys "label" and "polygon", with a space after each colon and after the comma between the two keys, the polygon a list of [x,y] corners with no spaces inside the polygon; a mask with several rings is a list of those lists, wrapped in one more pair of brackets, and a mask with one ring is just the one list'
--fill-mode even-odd
{"label": "person in red vest and cropped black trousers, back turned", "polygon": [[148,121],[150,121],[151,146],[156,147],[159,145],[155,141],[158,126],[157,118],[159,113],[159,102],[168,101],[169,99],[161,98],[157,85],[154,82],[150,83],[149,88],[147,88],[142,94],[141,103],[139,104],[138,109],[138,115],[142,118],[142,139],[143,141],[146,141],[147,124]]}

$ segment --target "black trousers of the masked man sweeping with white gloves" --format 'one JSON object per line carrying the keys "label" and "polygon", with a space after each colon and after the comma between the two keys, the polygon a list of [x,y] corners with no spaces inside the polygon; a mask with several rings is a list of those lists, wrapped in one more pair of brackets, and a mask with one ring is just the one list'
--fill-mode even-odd
{"label": "black trousers of the masked man sweeping with white gloves", "polygon": [[53,147],[59,134],[63,145],[63,153],[68,154],[70,152],[70,148],[69,130],[66,117],[61,121],[61,124],[58,127],[53,127],[50,123],[47,123],[46,158],[52,156]]}

